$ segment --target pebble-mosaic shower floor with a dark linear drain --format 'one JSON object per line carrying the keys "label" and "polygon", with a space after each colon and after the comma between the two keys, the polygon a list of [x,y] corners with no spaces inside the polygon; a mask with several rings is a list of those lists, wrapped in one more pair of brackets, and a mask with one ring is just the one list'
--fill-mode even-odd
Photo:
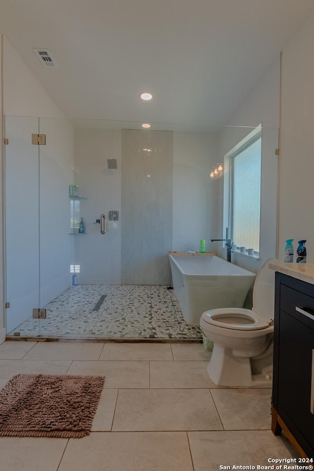
{"label": "pebble-mosaic shower floor with a dark linear drain", "polygon": [[31,317],[9,332],[23,336],[201,339],[166,286],[77,285],[45,306],[47,319]]}

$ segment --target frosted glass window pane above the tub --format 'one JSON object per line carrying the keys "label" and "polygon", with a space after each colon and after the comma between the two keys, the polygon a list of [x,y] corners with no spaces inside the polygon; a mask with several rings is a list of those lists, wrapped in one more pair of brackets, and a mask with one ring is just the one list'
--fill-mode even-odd
{"label": "frosted glass window pane above the tub", "polygon": [[232,156],[232,238],[260,250],[261,134]]}

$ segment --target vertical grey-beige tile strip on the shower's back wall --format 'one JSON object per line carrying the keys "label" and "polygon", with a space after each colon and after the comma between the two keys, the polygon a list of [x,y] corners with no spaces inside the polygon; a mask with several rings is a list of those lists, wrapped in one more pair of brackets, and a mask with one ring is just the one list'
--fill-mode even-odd
{"label": "vertical grey-beige tile strip on the shower's back wall", "polygon": [[171,283],[173,133],[122,130],[122,284]]}

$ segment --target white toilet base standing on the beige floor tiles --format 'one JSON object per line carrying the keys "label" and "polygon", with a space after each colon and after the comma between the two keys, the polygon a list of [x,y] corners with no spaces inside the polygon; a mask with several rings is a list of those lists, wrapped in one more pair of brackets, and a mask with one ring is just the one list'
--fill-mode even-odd
{"label": "white toilet base standing on the beige floor tiles", "polygon": [[258,374],[252,374],[250,358],[235,357],[232,350],[214,343],[211,359],[207,365],[209,378],[217,386],[230,388],[261,388],[272,386],[271,364]]}

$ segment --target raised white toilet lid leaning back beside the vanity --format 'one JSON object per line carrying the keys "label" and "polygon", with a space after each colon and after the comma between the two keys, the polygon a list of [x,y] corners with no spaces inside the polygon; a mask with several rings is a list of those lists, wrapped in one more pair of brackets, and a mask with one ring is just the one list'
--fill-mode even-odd
{"label": "raised white toilet lid leaning back beside the vanity", "polygon": [[268,268],[269,263],[278,263],[278,260],[269,258],[260,268],[253,288],[252,311],[270,320],[274,318],[275,271]]}

